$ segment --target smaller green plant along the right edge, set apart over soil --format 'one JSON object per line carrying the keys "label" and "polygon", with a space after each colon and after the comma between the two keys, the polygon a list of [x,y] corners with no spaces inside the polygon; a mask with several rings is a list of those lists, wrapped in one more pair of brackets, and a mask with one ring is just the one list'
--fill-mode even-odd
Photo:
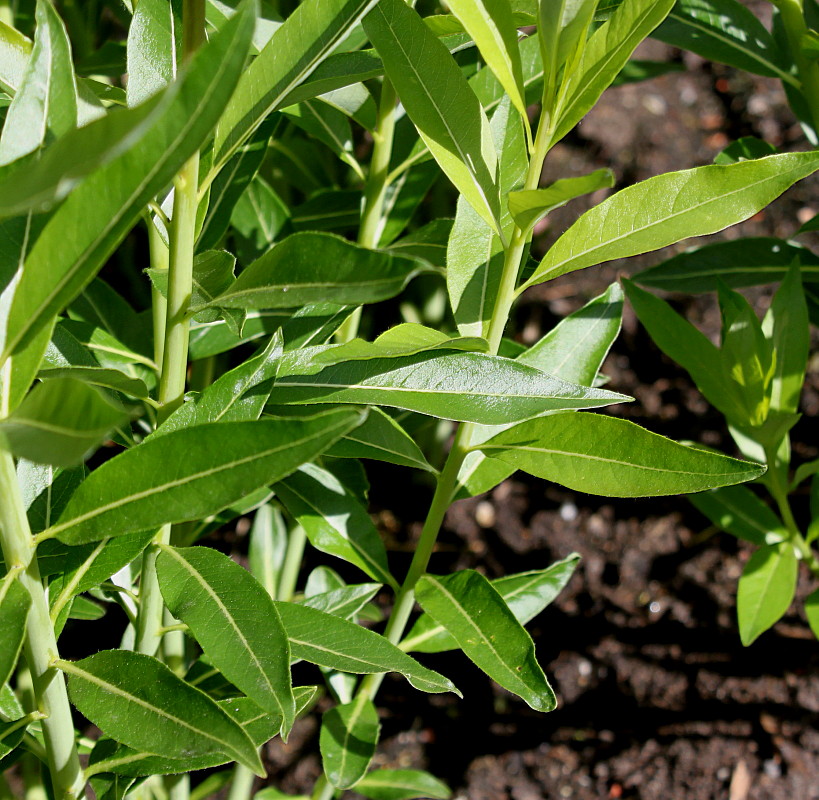
{"label": "smaller green plant along the right edge, set apart over soil", "polygon": [[[654,35],[757,75],[782,81],[791,107],[815,144],[819,114],[819,64],[814,45],[819,8],[813,0],[775,2],[772,30],[735,0],[681,0]],[[727,147],[718,164],[776,153],[754,137]],[[817,229],[815,220],[797,234]],[[741,452],[768,470],[758,479],[768,503],[748,487],[720,488],[692,495],[691,502],[720,530],[759,547],[739,581],[740,636],[751,644],[790,608],[799,562],[819,576],[812,548],[817,528],[819,483],[810,489],[807,524],[799,525],[789,494],[816,472],[814,462],[794,470],[790,431],[799,420],[799,401],[809,356],[810,322],[819,320],[816,265],[810,248],[776,238],[740,238],[694,247],[634,276],[644,286],[666,291],[718,292],[722,343],[715,347],[680,319],[667,303],[627,286],[641,322],[655,343],[690,373],[709,402],[725,415]],[[732,288],[781,282],[760,323],[745,298]],[[770,506],[773,506],[773,509]],[[774,510],[775,509],[775,510]],[[819,593],[805,601],[819,634]]]}

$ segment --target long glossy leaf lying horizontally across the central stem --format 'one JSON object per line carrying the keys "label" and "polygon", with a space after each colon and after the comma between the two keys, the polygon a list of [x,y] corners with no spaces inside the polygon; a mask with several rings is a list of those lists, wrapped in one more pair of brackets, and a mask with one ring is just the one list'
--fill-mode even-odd
{"label": "long glossy leaf lying horizontally across the central stem", "polygon": [[589,408],[626,399],[482,353],[430,351],[326,367],[311,355],[305,350],[282,362],[271,403],[388,405],[494,425],[558,408]]}

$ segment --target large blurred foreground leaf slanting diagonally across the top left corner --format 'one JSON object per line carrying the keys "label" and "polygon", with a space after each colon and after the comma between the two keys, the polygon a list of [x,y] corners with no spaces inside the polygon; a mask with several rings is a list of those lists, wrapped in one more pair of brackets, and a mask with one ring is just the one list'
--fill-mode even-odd
{"label": "large blurred foreground leaf slanting diagonally across the top left corner", "polygon": [[[159,96],[144,124],[132,131],[133,140],[126,139],[128,146],[121,145],[117,155],[76,186],[51,215],[26,259],[14,294],[3,359],[79,294],[148,201],[208,136],[244,66],[254,14],[252,4],[243,9],[197,52],[180,80]],[[107,119],[77,134],[88,132],[88,138],[96,141],[93,136],[104,132]],[[85,152],[79,139],[73,144]],[[72,160],[73,150],[68,163]]]}

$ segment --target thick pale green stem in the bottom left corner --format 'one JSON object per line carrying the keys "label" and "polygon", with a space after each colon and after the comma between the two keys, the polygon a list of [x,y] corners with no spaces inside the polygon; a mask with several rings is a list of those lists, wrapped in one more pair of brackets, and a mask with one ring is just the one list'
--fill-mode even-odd
{"label": "thick pale green stem in the bottom left corner", "polygon": [[49,615],[48,598],[40,578],[37,555],[20,494],[11,453],[0,446],[0,544],[8,569],[19,568],[17,580],[31,596],[26,619],[25,657],[31,673],[37,710],[43,719],[43,738],[54,797],[69,800],[83,788],[80,761],[74,741],[74,722],[65,677],[51,664],[59,658],[57,639]]}

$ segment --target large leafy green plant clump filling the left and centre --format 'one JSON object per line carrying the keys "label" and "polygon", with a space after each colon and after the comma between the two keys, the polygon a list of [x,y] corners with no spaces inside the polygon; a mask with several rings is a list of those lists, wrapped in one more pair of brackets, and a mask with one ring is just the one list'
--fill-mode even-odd
{"label": "large leafy green plant clump filling the left and centre", "polygon": [[[384,673],[457,692],[408,652],[459,648],[551,710],[523,624],[576,562],[495,582],[430,574],[450,503],[516,469],[620,497],[762,474],[577,413],[628,399],[595,386],[619,331],[618,287],[528,350],[504,338],[529,286],[720,230],[819,168],[816,153],[796,153],[662,175],[530,259],[538,220],[613,183],[601,170],[539,188],[544,159],[671,5],[458,0],[424,19],[402,0],[307,0],[282,22],[274,4],[260,16],[249,0],[112,3],[128,27],[124,92],[90,77],[102,58],[78,6],[66,19],[92,65],[79,77],[48,2],[37,2],[33,47],[0,23],[0,84],[13,98],[0,138],[4,767],[22,759],[37,786],[43,765],[60,800],[88,781],[105,798],[184,800],[187,773],[236,762],[206,788],[231,780],[240,800],[264,774],[259,747],[287,736],[316,695],[292,686],[291,663],[304,660],[338,701],[323,717],[314,798],[352,786],[376,800],[446,797],[424,773],[368,773]],[[6,16],[24,26],[17,11]],[[530,24],[538,34],[519,42]],[[370,132],[369,164],[353,123]],[[459,193],[455,219],[416,227],[439,168]],[[362,196],[357,242],[328,232],[356,227]],[[140,222],[144,312],[126,239]],[[440,281],[444,251],[457,330],[404,323],[356,338],[360,306],[417,277]],[[97,277],[115,254],[127,296]],[[442,465],[417,444],[425,417],[460,423]],[[116,455],[86,464],[108,440]],[[434,479],[400,579],[358,459]],[[250,571],[196,544],[251,512]],[[298,591],[308,542],[374,583],[321,567]],[[377,616],[382,586],[395,593],[383,635],[357,624]],[[128,619],[122,647],[62,658],[67,619],[110,603]],[[69,698],[103,732],[96,742],[75,735]]]}

